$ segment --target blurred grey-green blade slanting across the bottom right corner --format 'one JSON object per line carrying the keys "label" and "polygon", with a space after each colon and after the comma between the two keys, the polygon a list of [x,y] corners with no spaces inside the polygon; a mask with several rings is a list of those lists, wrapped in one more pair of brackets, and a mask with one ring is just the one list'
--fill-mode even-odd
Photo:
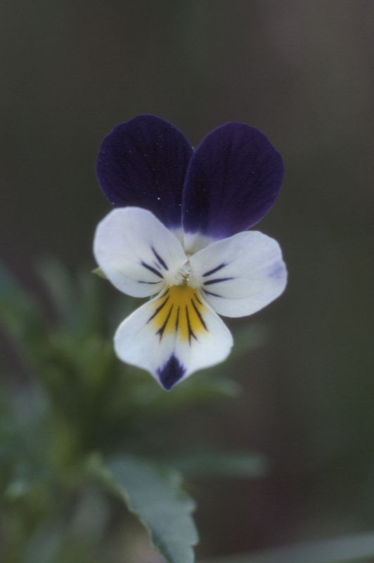
{"label": "blurred grey-green blade slanting across the bottom right corner", "polygon": [[373,561],[374,533],[357,533],[329,540],[314,540],[205,563],[353,563]]}

